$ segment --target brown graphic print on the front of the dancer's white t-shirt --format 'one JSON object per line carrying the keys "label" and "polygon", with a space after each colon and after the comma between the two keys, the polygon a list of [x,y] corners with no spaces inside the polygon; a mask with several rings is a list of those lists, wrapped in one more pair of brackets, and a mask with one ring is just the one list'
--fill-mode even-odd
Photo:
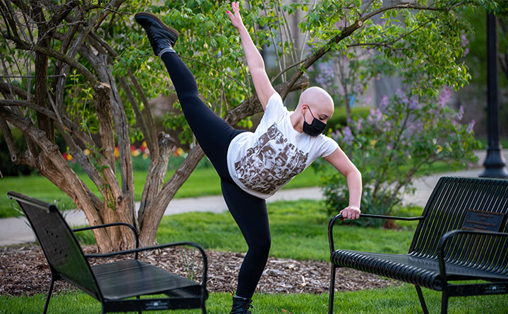
{"label": "brown graphic print on the front of the dancer's white t-shirt", "polygon": [[277,123],[262,134],[246,156],[236,162],[238,180],[248,189],[270,194],[306,168],[308,153],[288,143]]}

